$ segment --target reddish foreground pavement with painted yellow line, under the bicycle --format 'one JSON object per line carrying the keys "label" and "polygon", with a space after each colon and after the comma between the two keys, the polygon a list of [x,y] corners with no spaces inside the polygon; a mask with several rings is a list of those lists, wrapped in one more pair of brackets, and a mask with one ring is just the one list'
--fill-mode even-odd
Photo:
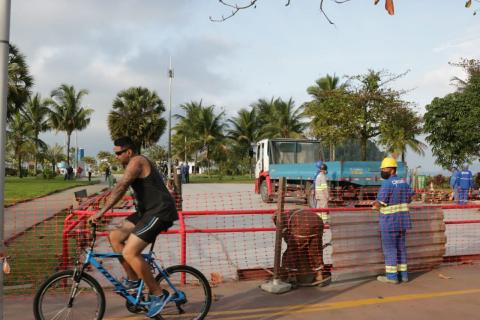
{"label": "reddish foreground pavement with painted yellow line, under the bicycle", "polygon": [[[480,265],[445,266],[415,274],[405,284],[388,285],[370,278],[298,288],[282,295],[263,292],[259,281],[230,282],[213,288],[214,302],[207,319],[475,320],[480,313],[479,274]],[[123,299],[111,289],[105,291],[105,320],[147,319],[130,314]],[[32,299],[6,297],[5,319],[32,319]]]}

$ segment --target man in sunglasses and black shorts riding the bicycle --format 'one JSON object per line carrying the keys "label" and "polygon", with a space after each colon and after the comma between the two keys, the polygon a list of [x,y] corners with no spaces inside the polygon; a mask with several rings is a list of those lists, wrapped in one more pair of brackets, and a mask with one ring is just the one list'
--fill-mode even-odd
{"label": "man in sunglasses and black shorts riding the bicycle", "polygon": [[114,141],[115,156],[125,168],[122,179],[112,189],[105,206],[89,218],[97,223],[132,187],[137,200],[137,212],[128,216],[119,228],[109,234],[109,240],[115,252],[121,253],[120,259],[127,279],[127,289],[136,288],[143,279],[150,291],[150,307],[147,316],[155,317],[170,301],[171,296],[156,283],[150,266],[141,253],[157,235],[168,230],[178,219],[175,201],[168,192],[155,166],[146,157],[137,153],[137,148],[129,137]]}

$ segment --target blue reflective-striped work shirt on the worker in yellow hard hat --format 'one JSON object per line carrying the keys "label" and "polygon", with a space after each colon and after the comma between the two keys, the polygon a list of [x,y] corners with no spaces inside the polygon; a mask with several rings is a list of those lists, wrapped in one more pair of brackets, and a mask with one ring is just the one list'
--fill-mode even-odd
{"label": "blue reflective-striped work shirt on the worker in yellow hard hat", "polygon": [[382,182],[378,190],[377,201],[380,203],[381,231],[403,231],[410,229],[408,204],[413,191],[410,186],[396,175]]}

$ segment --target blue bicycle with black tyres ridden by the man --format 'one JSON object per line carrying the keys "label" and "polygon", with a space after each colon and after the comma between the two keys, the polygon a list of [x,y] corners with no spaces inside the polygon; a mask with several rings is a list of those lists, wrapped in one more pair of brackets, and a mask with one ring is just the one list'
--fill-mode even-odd
{"label": "blue bicycle with black tyres ridden by the man", "polygon": [[[74,270],[57,272],[40,286],[33,302],[36,320],[103,319],[105,294],[98,281],[86,273],[88,266],[93,266],[112,283],[115,292],[125,298],[128,311],[142,313],[148,310],[150,301],[144,292],[144,282],[141,281],[135,289],[125,288],[97,260],[118,259],[121,254],[96,253],[95,242],[96,225],[92,225],[92,243],[86,250],[83,264],[77,260]],[[154,319],[204,319],[212,303],[211,288],[205,276],[186,265],[163,268],[155,261],[153,245],[154,243],[143,257],[156,274],[155,280],[172,295],[170,302]]]}

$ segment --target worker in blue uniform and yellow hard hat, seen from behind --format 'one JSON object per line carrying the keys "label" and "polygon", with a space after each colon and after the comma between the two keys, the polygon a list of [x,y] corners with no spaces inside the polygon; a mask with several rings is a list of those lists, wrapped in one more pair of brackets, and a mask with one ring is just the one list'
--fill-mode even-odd
{"label": "worker in blue uniform and yellow hard hat, seen from behind", "polygon": [[385,276],[378,276],[377,280],[384,283],[407,282],[406,235],[412,227],[408,204],[413,191],[404,180],[397,177],[397,161],[394,158],[383,159],[380,168],[384,181],[373,208],[380,211]]}

